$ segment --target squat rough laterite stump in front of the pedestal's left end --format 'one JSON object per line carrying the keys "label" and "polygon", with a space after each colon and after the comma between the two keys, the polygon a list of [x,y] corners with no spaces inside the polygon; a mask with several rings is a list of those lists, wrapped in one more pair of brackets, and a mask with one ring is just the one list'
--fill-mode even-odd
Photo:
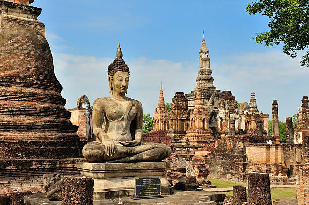
{"label": "squat rough laterite stump in front of the pedestal's left end", "polygon": [[93,179],[66,177],[62,189],[62,205],[92,205]]}

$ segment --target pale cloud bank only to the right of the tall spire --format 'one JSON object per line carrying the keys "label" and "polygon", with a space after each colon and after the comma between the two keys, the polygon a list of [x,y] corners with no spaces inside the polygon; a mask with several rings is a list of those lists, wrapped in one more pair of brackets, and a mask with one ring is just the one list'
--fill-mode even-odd
{"label": "pale cloud bank only to the right of the tall spire", "polygon": [[309,94],[309,68],[300,66],[300,57],[291,59],[272,50],[229,56],[223,62],[211,63],[215,86],[231,90],[239,102],[249,102],[255,92],[259,110],[270,117],[272,100],[278,100],[279,120],[285,121]]}

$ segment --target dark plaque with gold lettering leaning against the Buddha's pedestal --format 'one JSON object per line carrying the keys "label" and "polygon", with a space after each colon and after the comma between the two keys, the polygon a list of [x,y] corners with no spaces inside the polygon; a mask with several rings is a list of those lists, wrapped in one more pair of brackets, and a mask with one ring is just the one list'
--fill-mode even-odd
{"label": "dark plaque with gold lettering leaning against the Buddha's pedestal", "polygon": [[135,178],[135,197],[161,196],[161,177]]}

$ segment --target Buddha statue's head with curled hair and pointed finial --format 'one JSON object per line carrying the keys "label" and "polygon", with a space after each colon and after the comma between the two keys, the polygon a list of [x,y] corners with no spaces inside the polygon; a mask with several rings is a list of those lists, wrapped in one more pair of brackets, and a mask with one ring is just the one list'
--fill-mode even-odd
{"label": "Buddha statue's head with curled hair and pointed finial", "polygon": [[110,93],[112,90],[117,93],[126,93],[129,85],[129,76],[130,70],[128,65],[126,65],[122,59],[122,52],[118,43],[116,59],[108,67]]}

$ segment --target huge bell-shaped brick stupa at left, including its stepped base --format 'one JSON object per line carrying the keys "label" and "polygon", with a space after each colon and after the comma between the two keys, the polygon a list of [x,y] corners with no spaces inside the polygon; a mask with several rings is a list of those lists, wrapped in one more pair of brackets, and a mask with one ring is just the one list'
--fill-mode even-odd
{"label": "huge bell-shaped brick stupa at left, including its stepped base", "polygon": [[32,2],[0,1],[0,195],[42,191],[44,173],[79,174],[85,144]]}

